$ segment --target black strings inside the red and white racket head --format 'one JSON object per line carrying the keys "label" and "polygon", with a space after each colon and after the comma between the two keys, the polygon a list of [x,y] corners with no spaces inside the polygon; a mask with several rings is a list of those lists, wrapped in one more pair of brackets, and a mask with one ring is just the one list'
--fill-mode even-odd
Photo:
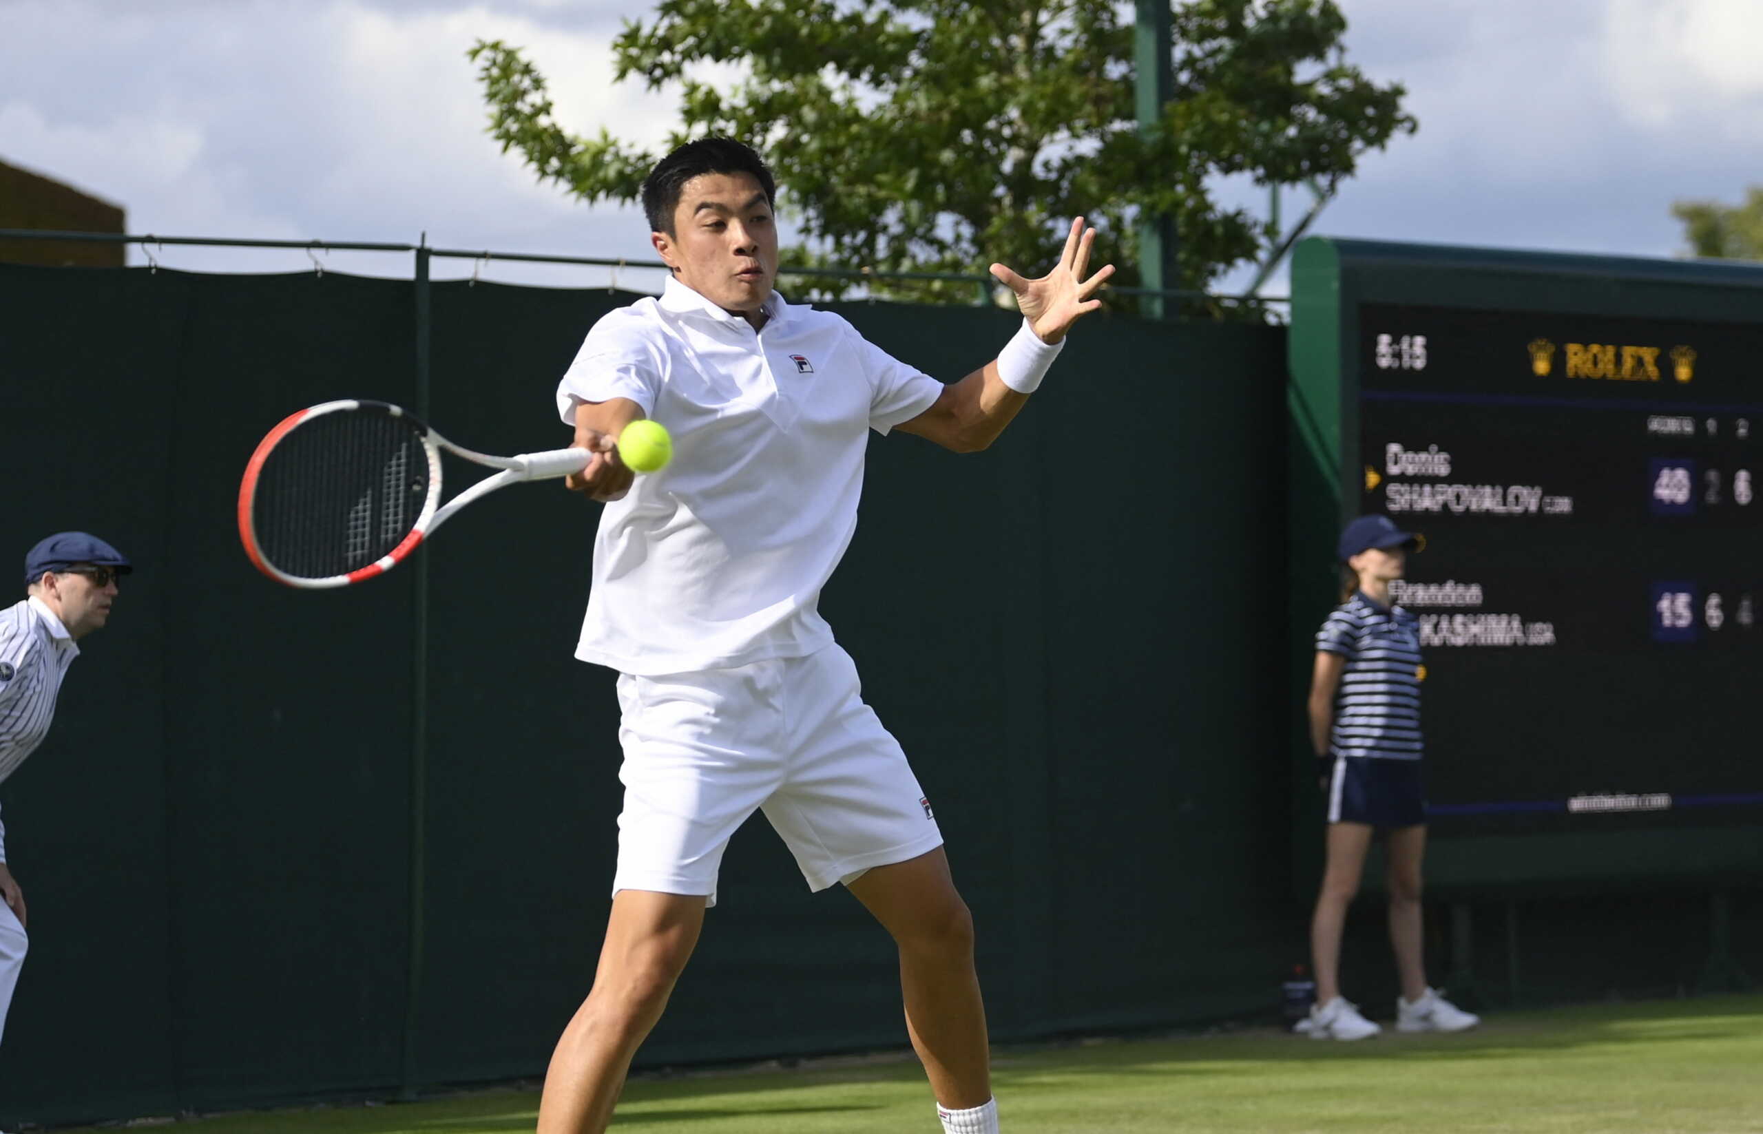
{"label": "black strings inside the red and white racket head", "polygon": [[259,554],[298,578],[377,563],[409,536],[430,494],[421,430],[377,406],[317,414],[263,462],[252,496]]}

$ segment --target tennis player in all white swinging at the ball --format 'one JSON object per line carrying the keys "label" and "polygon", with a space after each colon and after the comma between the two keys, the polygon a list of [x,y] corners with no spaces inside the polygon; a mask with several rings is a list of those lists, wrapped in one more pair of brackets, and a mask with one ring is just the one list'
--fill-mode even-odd
{"label": "tennis player in all white swinging at the ball", "polygon": [[[610,501],[577,656],[619,672],[624,811],[599,968],[552,1056],[543,1134],[606,1129],[755,809],[809,889],[846,885],[894,936],[943,1130],[998,1130],[968,908],[931,804],[816,605],[857,526],[867,430],[984,450],[1100,307],[1112,266],[1088,273],[1082,219],[1045,277],[993,265],[1023,325],[945,386],[774,291],[774,201],[737,141],[656,164],[643,210],[672,277],[594,325],[557,390],[575,443],[596,451],[568,483]],[[675,457],[633,483],[612,443],[638,418],[672,432]]]}

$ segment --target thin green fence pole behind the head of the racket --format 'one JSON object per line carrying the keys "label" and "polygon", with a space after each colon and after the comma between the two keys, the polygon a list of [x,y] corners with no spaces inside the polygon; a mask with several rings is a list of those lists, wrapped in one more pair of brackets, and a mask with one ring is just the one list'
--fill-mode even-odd
{"label": "thin green fence pole behind the head of the racket", "polygon": [[[428,310],[428,233],[416,247],[413,298],[416,302],[416,416],[428,420],[428,349],[432,319]],[[421,1025],[423,963],[427,935],[428,866],[428,556],[411,563],[411,769],[409,769],[409,956],[404,989],[404,1069],[400,1095],[416,1099],[421,1086],[416,1062],[416,1037]]]}

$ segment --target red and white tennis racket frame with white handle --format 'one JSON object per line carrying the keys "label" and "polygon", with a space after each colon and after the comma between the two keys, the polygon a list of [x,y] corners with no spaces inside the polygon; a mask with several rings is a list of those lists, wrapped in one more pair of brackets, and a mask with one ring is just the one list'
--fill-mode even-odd
{"label": "red and white tennis racket frame with white handle", "polygon": [[[418,430],[423,443],[423,453],[428,459],[428,499],[423,501],[421,511],[416,515],[416,522],[411,526],[411,533],[391,548],[381,559],[349,571],[347,575],[330,575],[326,578],[301,578],[277,570],[263,557],[263,548],[257,543],[257,527],[252,517],[252,499],[257,492],[257,476],[263,471],[263,462],[268,460],[270,451],[294,430],[296,425],[310,422],[316,416],[326,413],[347,413],[361,409],[363,406],[377,407],[388,411],[395,418],[404,418],[411,422]],[[487,476],[455,496],[446,504],[441,504],[441,450],[453,453],[455,457],[464,457],[474,464],[481,464],[490,469],[501,469],[495,476]],[[472,503],[474,499],[495,492],[497,489],[506,489],[527,480],[555,480],[559,476],[569,476],[571,473],[580,473],[587,467],[591,453],[587,450],[569,448],[569,450],[545,450],[539,453],[520,453],[517,457],[490,457],[488,453],[478,453],[474,450],[453,444],[435,430],[428,429],[416,414],[393,406],[391,402],[372,402],[363,399],[344,399],[337,402],[319,402],[317,406],[309,406],[296,413],[282,418],[275,429],[272,429],[263,441],[257,443],[257,450],[250,455],[245,464],[245,478],[238,485],[238,538],[245,545],[245,554],[250,557],[252,566],[273,578],[275,582],[287,584],[289,587],[300,587],[303,591],[328,591],[331,587],[347,587],[349,584],[365,582],[376,575],[384,575],[397,564],[404,563],[435,529],[441,527],[455,511]]]}

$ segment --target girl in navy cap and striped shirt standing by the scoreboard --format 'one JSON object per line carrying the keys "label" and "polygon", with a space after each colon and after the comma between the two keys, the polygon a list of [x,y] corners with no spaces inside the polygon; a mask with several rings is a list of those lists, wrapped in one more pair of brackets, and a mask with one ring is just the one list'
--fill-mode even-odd
{"label": "girl in navy cap and striped shirt standing by the scoreboard", "polygon": [[1340,995],[1340,936],[1359,891],[1372,834],[1389,855],[1389,944],[1402,995],[1398,1032],[1463,1032],[1481,1023],[1426,986],[1421,958],[1421,857],[1426,792],[1421,785],[1419,621],[1389,601],[1419,536],[1386,515],[1363,515],[1340,536],[1350,582],[1345,601],[1317,631],[1310,679],[1310,741],[1328,792],[1328,866],[1310,924],[1317,1002],[1310,1039],[1370,1039],[1382,1032]]}

